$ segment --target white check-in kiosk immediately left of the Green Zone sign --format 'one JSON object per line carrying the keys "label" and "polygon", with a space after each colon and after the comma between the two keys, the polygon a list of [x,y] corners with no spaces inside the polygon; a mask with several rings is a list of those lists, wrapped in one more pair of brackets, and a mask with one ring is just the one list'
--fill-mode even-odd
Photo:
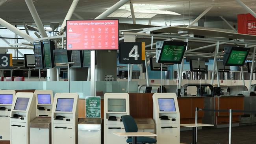
{"label": "white check-in kiosk immediately left of the Green Zone sign", "polygon": [[77,144],[78,94],[56,93],[52,107],[52,144]]}

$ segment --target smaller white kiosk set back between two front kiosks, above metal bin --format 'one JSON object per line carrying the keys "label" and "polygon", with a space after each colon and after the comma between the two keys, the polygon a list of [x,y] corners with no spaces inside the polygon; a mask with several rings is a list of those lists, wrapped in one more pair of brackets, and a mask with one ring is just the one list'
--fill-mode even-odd
{"label": "smaller white kiosk set back between two front kiosks, above metal bin", "polygon": [[52,116],[52,90],[35,90],[37,116]]}

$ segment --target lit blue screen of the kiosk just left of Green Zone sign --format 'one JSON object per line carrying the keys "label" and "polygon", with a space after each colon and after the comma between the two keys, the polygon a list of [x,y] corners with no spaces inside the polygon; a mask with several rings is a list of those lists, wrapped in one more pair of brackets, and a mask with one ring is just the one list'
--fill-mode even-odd
{"label": "lit blue screen of the kiosk just left of Green Zone sign", "polygon": [[58,98],[56,111],[72,112],[74,98]]}

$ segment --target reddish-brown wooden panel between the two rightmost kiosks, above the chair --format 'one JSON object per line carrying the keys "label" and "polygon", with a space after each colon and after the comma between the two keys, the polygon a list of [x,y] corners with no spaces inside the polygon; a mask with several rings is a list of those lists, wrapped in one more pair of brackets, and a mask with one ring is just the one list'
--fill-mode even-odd
{"label": "reddish-brown wooden panel between the two rightmost kiosks, above the chair", "polygon": [[153,118],[153,93],[129,93],[130,115],[134,118]]}

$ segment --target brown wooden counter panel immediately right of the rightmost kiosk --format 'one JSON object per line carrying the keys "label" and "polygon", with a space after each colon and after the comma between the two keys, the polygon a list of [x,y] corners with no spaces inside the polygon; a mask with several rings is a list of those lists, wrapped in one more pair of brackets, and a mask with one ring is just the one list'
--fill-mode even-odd
{"label": "brown wooden counter panel immediately right of the rightmost kiosk", "polygon": [[178,98],[180,119],[192,118],[192,98]]}

